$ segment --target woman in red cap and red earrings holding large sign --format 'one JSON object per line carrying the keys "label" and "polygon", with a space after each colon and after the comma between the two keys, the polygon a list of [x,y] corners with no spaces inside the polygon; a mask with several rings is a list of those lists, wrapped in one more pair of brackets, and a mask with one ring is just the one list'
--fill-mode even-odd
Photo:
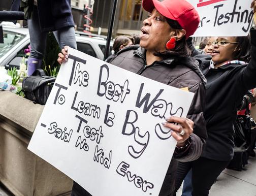
{"label": "woman in red cap and red earrings holding large sign", "polygon": [[[151,14],[143,21],[140,45],[126,47],[110,63],[152,80],[194,92],[187,118],[165,116],[163,125],[172,130],[177,146],[159,195],[173,195],[178,161],[192,161],[202,153],[207,138],[203,111],[205,78],[198,63],[189,57],[186,39],[200,22],[195,8],[185,0],[144,0]],[[62,50],[58,61],[65,60]],[[163,119],[164,120],[164,119]],[[178,125],[175,125],[176,122]],[[146,122],[145,122],[146,123]],[[194,130],[194,132],[193,132]],[[171,156],[171,155],[170,155]],[[178,160],[178,161],[177,161]],[[74,182],[72,195],[88,195]]]}

